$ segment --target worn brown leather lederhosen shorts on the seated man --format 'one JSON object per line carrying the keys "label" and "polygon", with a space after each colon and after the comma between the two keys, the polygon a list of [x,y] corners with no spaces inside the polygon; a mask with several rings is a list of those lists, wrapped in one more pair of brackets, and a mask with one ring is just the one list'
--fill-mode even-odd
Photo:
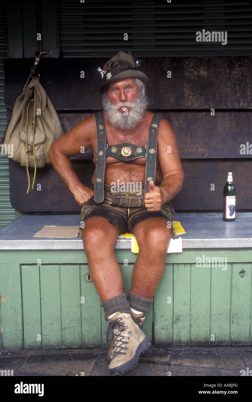
{"label": "worn brown leather lederhosen shorts on the seated man", "polygon": [[[144,204],[144,185],[141,185],[139,191],[114,192],[110,185],[104,185],[104,200],[102,203],[96,203],[94,196],[82,206],[81,220],[86,220],[100,216],[106,218],[109,222],[119,228],[119,235],[129,232],[133,233],[134,227],[141,221],[152,217],[165,219],[170,222],[172,237],[178,238],[172,226],[175,211],[172,204],[167,201],[162,205],[160,211],[148,211]],[[140,194],[141,192],[141,194]],[[81,226],[79,228],[81,236]]]}

